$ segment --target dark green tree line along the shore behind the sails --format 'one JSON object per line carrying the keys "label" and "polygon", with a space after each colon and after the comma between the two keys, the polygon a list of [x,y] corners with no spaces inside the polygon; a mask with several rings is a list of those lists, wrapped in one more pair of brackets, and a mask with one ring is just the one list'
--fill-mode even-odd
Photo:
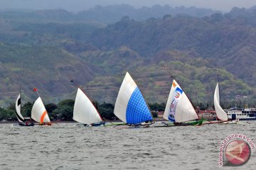
{"label": "dark green tree line along the shore behind the sails", "polygon": [[[48,103],[46,104],[46,111],[48,112],[50,120],[63,120],[70,121],[73,120],[73,108],[74,100],[65,99],[60,101],[58,104]],[[103,120],[118,120],[114,115],[114,105],[112,103],[98,103],[97,101],[92,102],[99,111]],[[195,107],[199,106],[201,110],[214,109],[213,103],[194,103]],[[255,107],[256,101],[223,101],[223,108],[232,108],[236,106],[237,108],[245,107]],[[23,117],[30,117],[33,103],[27,102],[24,103],[21,107],[21,114]],[[154,118],[157,118],[157,111],[164,111],[166,103],[149,103],[149,108],[152,111]],[[7,108],[0,108],[0,120],[17,120],[16,119],[16,110],[15,103],[10,103]]]}

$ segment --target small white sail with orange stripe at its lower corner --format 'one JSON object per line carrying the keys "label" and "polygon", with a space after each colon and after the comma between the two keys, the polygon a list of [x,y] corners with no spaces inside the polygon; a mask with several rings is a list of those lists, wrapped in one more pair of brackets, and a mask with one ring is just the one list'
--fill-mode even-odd
{"label": "small white sail with orange stripe at its lower corner", "polygon": [[36,120],[38,123],[50,123],[50,118],[45,106],[43,105],[41,97],[38,97],[38,99],[33,104],[31,118]]}

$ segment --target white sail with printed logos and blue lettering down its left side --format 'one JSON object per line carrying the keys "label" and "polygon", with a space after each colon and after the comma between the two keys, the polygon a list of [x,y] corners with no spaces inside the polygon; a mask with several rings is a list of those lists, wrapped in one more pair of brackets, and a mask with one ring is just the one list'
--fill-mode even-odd
{"label": "white sail with printed logos and blue lettering down its left side", "polygon": [[176,123],[198,119],[195,109],[181,86],[174,80],[164,111],[164,119]]}

